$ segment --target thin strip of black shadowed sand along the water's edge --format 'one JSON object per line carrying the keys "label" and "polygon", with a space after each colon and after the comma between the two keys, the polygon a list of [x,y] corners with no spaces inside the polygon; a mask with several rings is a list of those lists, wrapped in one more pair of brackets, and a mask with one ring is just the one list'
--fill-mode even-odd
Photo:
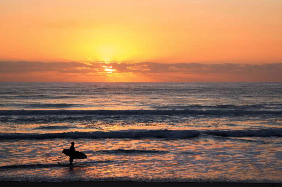
{"label": "thin strip of black shadowed sand along the water's edge", "polygon": [[40,187],[57,187],[57,186],[103,186],[103,187],[200,187],[200,186],[207,186],[207,187],[278,187],[282,186],[282,184],[264,184],[264,183],[202,183],[202,182],[104,182],[104,181],[83,181],[83,182],[0,182],[0,186],[20,186],[20,187],[33,187],[33,186],[40,186]]}

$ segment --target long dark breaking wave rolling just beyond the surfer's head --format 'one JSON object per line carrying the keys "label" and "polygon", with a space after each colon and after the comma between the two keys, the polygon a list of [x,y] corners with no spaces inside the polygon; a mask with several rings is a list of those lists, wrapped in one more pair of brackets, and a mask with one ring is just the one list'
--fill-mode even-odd
{"label": "long dark breaking wave rolling just beyond the surfer's head", "polygon": [[47,138],[192,138],[200,134],[225,137],[282,137],[282,128],[245,130],[121,130],[63,133],[0,133],[0,139]]}

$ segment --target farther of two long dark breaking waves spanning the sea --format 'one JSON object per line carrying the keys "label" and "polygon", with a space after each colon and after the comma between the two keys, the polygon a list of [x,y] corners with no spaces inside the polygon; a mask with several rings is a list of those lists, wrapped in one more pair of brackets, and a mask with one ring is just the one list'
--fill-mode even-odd
{"label": "farther of two long dark breaking waves spanning the sea", "polygon": [[252,115],[282,114],[282,110],[0,110],[0,115]]}

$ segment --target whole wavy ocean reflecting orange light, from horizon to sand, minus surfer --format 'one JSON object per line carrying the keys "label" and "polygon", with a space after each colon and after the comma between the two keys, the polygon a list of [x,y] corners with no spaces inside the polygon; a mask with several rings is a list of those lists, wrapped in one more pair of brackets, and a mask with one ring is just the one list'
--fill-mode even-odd
{"label": "whole wavy ocean reflecting orange light, from horizon to sand, minus surfer", "polygon": [[1,82],[0,149],[1,181],[282,183],[282,83]]}

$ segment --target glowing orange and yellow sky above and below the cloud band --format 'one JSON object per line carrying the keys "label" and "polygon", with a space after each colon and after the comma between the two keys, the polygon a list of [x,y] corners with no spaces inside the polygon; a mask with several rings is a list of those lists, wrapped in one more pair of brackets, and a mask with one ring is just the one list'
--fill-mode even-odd
{"label": "glowing orange and yellow sky above and below the cloud band", "polygon": [[[281,18],[281,0],[1,0],[0,61],[281,63]],[[48,73],[56,72],[26,72],[27,81]],[[120,74],[120,81],[133,79],[134,72],[126,73],[131,75]],[[191,76],[181,73],[171,77]],[[0,81],[20,76],[2,74]],[[143,76],[161,81],[156,72],[134,74],[136,81]]]}

